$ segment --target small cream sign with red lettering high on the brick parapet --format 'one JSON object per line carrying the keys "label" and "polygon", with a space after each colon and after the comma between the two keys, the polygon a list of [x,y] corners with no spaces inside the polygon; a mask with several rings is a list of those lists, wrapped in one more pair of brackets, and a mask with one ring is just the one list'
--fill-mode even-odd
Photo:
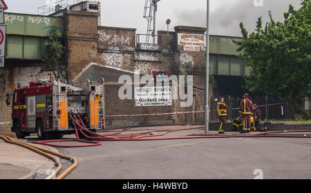
{"label": "small cream sign with red lettering high on the brick parapet", "polygon": [[206,36],[204,34],[178,34],[178,47],[184,51],[205,51]]}

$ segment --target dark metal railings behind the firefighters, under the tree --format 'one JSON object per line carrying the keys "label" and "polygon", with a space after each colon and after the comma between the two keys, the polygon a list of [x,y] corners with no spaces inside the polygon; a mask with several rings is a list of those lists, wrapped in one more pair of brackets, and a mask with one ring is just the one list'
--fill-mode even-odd
{"label": "dark metal railings behind the firefighters, under the tree", "polygon": [[[249,97],[253,104],[258,105],[261,110],[261,121],[281,124],[310,124],[311,125],[311,100],[299,98],[281,100],[271,96]],[[211,122],[218,121],[217,113],[218,98],[211,99]],[[232,121],[238,117],[241,98],[227,96],[225,103],[228,106],[227,119]]]}

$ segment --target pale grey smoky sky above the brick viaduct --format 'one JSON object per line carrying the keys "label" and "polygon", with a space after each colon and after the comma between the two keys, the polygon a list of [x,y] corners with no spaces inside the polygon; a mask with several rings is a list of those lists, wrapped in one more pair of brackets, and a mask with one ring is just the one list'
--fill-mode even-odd
{"label": "pale grey smoky sky above the brick viaduct", "polygon": [[[53,0],[5,0],[6,12],[37,14],[40,6]],[[144,34],[147,20],[142,18],[145,0],[101,0],[102,26],[137,28]],[[263,0],[263,7],[254,6],[254,0],[210,0],[211,34],[241,36],[239,23],[245,23],[253,31],[258,17],[267,21],[272,11],[276,21],[283,19],[283,12],[292,4],[299,8],[301,0]],[[161,0],[158,3],[157,30],[167,30],[165,21],[171,19],[174,26],[206,27],[206,0]]]}

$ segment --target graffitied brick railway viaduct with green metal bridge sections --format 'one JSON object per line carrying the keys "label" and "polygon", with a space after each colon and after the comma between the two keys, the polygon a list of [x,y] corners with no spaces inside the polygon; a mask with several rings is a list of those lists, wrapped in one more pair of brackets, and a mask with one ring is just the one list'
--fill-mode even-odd
{"label": "graffitied brick railway viaduct with green metal bridge sections", "polygon": [[[206,28],[176,26],[173,32],[158,31],[155,43],[146,43],[144,35],[133,28],[99,26],[100,12],[61,9],[49,16],[6,13],[8,37],[6,65],[0,69],[0,122],[10,121],[11,107],[5,104],[6,93],[12,92],[17,83],[27,84],[28,74],[48,72],[42,62],[44,41],[49,29],[57,26],[63,35],[66,48],[62,65],[66,78],[71,81],[104,77],[106,83],[106,114],[147,114],[151,112],[179,112],[204,110],[205,107],[205,32]],[[237,57],[236,37],[211,36],[209,61],[210,96],[227,94],[223,88],[232,80],[242,80],[249,68]],[[191,41],[194,46],[189,46]],[[95,64],[95,65],[91,65]],[[100,68],[102,66],[103,68]],[[104,68],[104,67],[109,68]],[[91,68],[93,69],[91,69]],[[90,69],[89,69],[90,68]],[[120,74],[140,72],[151,75],[153,71],[169,71],[171,74],[187,72],[194,76],[194,103],[181,108],[178,100],[165,107],[135,107],[134,100],[120,100],[117,90]],[[224,81],[229,80],[229,81]],[[219,85],[221,82],[225,82]],[[236,81],[236,80],[235,80]],[[111,83],[114,82],[114,83]],[[172,85],[173,86],[173,85]],[[243,92],[243,91],[241,91]],[[240,93],[238,93],[240,94]],[[146,125],[154,123],[204,122],[204,113],[174,116],[144,116],[110,118],[110,126]],[[10,132],[8,125],[0,125],[0,133]]]}

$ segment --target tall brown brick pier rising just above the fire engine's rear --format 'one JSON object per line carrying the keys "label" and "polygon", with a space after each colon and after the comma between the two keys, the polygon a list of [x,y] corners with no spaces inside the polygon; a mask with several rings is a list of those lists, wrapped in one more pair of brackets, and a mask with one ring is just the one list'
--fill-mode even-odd
{"label": "tall brown brick pier rising just above the fire engine's rear", "polygon": [[64,11],[64,44],[68,82],[93,61],[97,54],[97,19],[100,13],[75,10]]}

